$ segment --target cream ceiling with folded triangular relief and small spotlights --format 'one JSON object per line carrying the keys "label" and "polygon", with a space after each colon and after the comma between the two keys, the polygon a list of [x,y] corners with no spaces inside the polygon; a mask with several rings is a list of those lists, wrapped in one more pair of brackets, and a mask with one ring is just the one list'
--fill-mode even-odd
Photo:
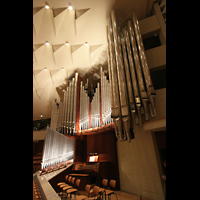
{"label": "cream ceiling with folded triangular relief and small spotlights", "polygon": [[52,102],[60,99],[56,88],[76,69],[87,72],[107,61],[106,26],[112,9],[119,21],[132,9],[141,20],[151,15],[153,1],[33,0],[33,120],[41,114],[51,117]]}

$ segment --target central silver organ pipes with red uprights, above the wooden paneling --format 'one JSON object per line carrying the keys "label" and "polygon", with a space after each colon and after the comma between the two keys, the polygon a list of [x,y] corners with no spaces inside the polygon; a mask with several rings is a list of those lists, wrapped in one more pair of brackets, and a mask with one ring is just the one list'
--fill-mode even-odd
{"label": "central silver organ pipes with red uprights, above the wooden paneling", "polygon": [[83,85],[83,81],[78,81],[78,73],[75,73],[75,77],[64,91],[64,100],[58,103],[55,99],[53,103],[51,129],[74,136],[77,132],[113,122],[110,83],[102,68],[100,74],[100,83],[97,83],[95,92],[92,88],[93,97],[90,99],[88,79],[86,85]]}

